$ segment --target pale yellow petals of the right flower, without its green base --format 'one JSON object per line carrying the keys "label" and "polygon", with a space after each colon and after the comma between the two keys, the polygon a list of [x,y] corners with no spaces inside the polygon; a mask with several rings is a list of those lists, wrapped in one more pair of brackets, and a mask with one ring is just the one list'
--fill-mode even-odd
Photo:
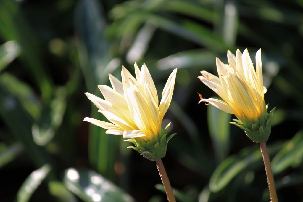
{"label": "pale yellow petals of the right flower, without its green base", "polygon": [[216,58],[219,77],[206,71],[201,71],[202,76],[198,76],[201,82],[217,93],[224,102],[208,99],[202,101],[208,100],[210,104],[235,114],[239,119],[255,121],[265,109],[266,89],[262,80],[261,49],[256,53],[256,70],[247,49],[243,54],[238,49],[236,56],[228,51],[227,58],[229,65]]}

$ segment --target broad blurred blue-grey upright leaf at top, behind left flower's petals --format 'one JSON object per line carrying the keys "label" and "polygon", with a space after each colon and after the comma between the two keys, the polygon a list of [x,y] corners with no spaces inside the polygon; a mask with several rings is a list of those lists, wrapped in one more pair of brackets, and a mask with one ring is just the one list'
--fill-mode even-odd
{"label": "broad blurred blue-grey upright leaf at top, behind left flower's petals", "polygon": [[75,30],[77,49],[87,90],[95,92],[99,82],[107,81],[105,66],[108,57],[108,43],[105,39],[105,18],[102,5],[95,0],[79,1],[75,8]]}

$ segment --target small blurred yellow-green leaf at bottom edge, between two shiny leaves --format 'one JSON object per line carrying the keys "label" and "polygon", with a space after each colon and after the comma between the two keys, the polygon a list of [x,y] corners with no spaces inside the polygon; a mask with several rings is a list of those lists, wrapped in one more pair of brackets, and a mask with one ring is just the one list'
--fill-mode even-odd
{"label": "small blurred yellow-green leaf at bottom edge, between two shiny leaves", "polygon": [[76,202],[77,198],[70,192],[62,182],[50,181],[48,183],[49,193],[57,197],[61,202]]}

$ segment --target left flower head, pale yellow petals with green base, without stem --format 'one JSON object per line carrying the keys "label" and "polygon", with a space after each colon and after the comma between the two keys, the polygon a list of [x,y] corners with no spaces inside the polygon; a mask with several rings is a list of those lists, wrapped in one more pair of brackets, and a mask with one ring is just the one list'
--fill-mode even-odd
{"label": "left flower head, pale yellow petals with green base, without stem", "polygon": [[122,82],[109,74],[112,88],[98,86],[104,99],[85,93],[109,122],[89,117],[84,121],[106,129],[107,134],[131,138],[127,141],[135,146],[128,148],[137,150],[150,160],[164,157],[171,137],[166,139],[167,130],[162,130],[161,122],[171,102],[176,72],[177,69],[169,76],[159,104],[158,93],[146,65],[142,65],[140,71],[135,63],[136,78],[122,66]]}

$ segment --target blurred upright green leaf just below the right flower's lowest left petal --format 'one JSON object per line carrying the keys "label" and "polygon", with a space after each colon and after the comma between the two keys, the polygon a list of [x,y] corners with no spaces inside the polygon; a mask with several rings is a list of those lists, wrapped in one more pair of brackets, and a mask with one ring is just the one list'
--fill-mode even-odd
{"label": "blurred upright green leaf just below the right flower's lowest left petal", "polygon": [[214,106],[207,106],[207,123],[217,163],[229,153],[231,114]]}

